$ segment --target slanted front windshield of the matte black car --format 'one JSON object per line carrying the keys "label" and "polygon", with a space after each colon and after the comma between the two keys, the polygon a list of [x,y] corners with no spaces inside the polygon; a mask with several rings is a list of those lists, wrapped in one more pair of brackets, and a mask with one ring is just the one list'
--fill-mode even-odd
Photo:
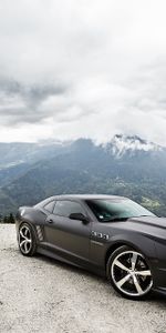
{"label": "slanted front windshield of the matte black car", "polygon": [[127,220],[137,216],[155,216],[152,212],[129,199],[86,200],[89,208],[100,222]]}

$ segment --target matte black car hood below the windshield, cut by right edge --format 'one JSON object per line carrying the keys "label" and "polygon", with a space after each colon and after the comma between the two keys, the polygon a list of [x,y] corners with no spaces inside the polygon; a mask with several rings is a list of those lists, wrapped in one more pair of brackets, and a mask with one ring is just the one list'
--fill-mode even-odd
{"label": "matte black car hood below the windshield, cut by right edge", "polygon": [[166,229],[166,218],[138,216],[138,218],[131,218],[127,221],[147,225],[147,226],[151,225],[151,226]]}

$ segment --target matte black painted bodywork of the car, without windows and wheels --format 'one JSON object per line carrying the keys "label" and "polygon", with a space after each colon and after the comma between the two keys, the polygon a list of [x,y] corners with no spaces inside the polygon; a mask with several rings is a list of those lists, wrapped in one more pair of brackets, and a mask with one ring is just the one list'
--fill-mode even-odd
{"label": "matte black painted bodywork of the car, without windows and wheels", "polygon": [[[112,196],[101,196],[112,198]],[[126,244],[142,252],[153,272],[153,287],[166,292],[166,219],[157,216],[131,218],[127,221],[98,222],[85,203],[84,195],[52,196],[32,208],[20,208],[17,215],[17,233],[22,222],[33,225],[38,252],[72,263],[100,275],[106,275],[106,261],[118,246]],[[89,223],[62,218],[48,212],[51,201],[79,202]],[[39,240],[38,228],[43,239]]]}

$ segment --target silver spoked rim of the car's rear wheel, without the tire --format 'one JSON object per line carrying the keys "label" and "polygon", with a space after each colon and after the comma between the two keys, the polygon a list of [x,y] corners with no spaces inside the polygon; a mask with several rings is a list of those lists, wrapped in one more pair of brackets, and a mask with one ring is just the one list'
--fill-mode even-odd
{"label": "silver spoked rim of the car's rear wheel, without the tire", "polygon": [[29,254],[32,249],[32,234],[28,225],[22,225],[19,230],[19,246],[23,254]]}

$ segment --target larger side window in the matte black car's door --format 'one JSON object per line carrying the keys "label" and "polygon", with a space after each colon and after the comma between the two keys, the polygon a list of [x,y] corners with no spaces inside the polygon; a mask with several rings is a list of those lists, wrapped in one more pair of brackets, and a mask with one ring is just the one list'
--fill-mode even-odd
{"label": "larger side window in the matte black car's door", "polygon": [[56,201],[53,214],[69,218],[72,213],[85,214],[82,205],[74,201]]}

